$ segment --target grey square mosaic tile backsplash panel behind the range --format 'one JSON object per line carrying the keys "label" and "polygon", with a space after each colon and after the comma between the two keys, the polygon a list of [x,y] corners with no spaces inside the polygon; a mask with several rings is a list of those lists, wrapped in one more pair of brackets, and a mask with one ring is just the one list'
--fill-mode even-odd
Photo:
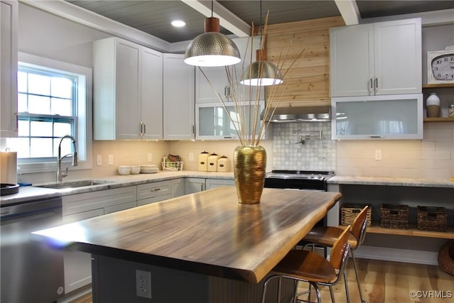
{"label": "grey square mosaic tile backsplash panel behind the range", "polygon": [[[300,136],[318,136],[305,139]],[[272,136],[273,170],[336,170],[336,141],[331,122],[275,123]]]}

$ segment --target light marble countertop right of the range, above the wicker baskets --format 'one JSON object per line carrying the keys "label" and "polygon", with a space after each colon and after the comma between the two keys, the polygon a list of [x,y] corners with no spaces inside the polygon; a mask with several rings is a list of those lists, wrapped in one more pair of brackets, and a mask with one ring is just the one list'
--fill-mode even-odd
{"label": "light marble countertop right of the range, above the wicker baskets", "polygon": [[450,179],[404,178],[404,177],[357,177],[336,175],[328,179],[328,184],[454,188],[454,181],[451,181]]}

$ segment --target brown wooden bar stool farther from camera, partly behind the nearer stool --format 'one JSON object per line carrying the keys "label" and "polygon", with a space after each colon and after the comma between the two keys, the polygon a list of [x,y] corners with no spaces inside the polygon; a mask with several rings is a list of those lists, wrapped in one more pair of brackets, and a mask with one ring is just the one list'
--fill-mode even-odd
{"label": "brown wooden bar stool farther from camera, partly behind the nearer stool", "polygon": [[[358,269],[356,268],[356,260],[354,250],[358,248],[364,241],[367,228],[367,210],[369,206],[365,206],[358,216],[355,217],[353,224],[350,228],[350,236],[348,238],[348,243],[351,246],[350,253],[353,258],[353,268],[355,268],[356,282],[358,284],[358,290],[360,292],[360,299],[362,303],[367,303],[367,301],[362,297],[362,290],[360,279],[358,277]],[[321,245],[332,247],[336,242],[336,239],[343,233],[343,228],[333,227],[333,226],[320,226],[313,228],[307,235],[302,239],[302,241],[308,242],[306,246],[311,245]]]}

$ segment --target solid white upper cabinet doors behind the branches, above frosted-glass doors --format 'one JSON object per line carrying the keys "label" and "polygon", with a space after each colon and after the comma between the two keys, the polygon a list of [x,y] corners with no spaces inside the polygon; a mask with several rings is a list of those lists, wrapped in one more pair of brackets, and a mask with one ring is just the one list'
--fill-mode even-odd
{"label": "solid white upper cabinet doors behind the branches, above frosted-glass doors", "polygon": [[[251,50],[252,60],[255,61],[255,50],[260,48],[260,38],[253,38],[253,45],[251,48],[250,38],[235,38],[233,42],[238,46],[240,51],[241,62],[232,67],[228,67],[232,70],[232,82],[228,82],[226,67],[196,67],[196,103],[214,103],[218,102],[219,99],[216,94],[220,94],[224,101],[233,101],[233,94],[236,94],[237,101],[249,101],[250,99],[255,100],[257,94],[256,87],[250,87],[240,84],[240,78],[243,70],[248,69],[251,62]],[[205,75],[204,75],[205,74]],[[205,77],[206,76],[206,77]],[[206,79],[208,78],[208,80]],[[265,89],[260,88],[260,99],[265,99]],[[235,92],[233,92],[235,90]]]}

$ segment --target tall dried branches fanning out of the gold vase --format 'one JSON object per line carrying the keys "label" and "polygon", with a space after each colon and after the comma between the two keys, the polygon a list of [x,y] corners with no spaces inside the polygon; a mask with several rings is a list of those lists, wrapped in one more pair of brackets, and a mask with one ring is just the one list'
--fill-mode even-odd
{"label": "tall dried branches fanning out of the gold vase", "polygon": [[[267,15],[268,18],[268,15]],[[265,26],[263,27],[263,32],[261,33],[260,37],[260,49],[258,50],[257,55],[257,62],[258,64],[258,77],[262,78],[263,75],[266,73],[266,53],[265,53],[265,39],[262,37],[266,36],[267,32],[267,18],[265,20]],[[254,24],[252,24],[252,33],[255,32]],[[251,35],[249,38],[248,47],[245,50],[245,54],[242,54],[243,57],[249,55],[250,62],[253,62],[253,53],[255,53],[255,45],[253,45],[254,35]],[[249,48],[250,47],[250,48]],[[265,133],[266,128],[270,125],[270,121],[264,121],[260,123],[261,117],[269,117],[274,114],[275,109],[279,105],[279,101],[282,97],[282,94],[287,87],[285,82],[286,76],[288,72],[292,69],[292,67],[304,57],[305,50],[301,50],[301,53],[297,55],[297,57],[292,60],[292,62],[287,65],[286,60],[283,58],[287,57],[289,54],[289,50],[292,49],[292,42],[289,43],[287,50],[284,51],[282,48],[281,53],[279,54],[279,59],[277,62],[277,69],[282,73],[282,79],[284,80],[284,84],[277,84],[277,82],[272,83],[272,85],[268,87],[268,94],[263,93],[261,81],[257,81],[257,86],[253,85],[243,85],[240,84],[240,79],[238,79],[238,73],[236,70],[237,65],[229,65],[224,67],[226,70],[226,77],[228,87],[230,88],[230,94],[228,97],[231,98],[231,101],[228,101],[228,97],[222,97],[219,92],[216,92],[214,84],[211,82],[209,77],[206,76],[205,72],[199,67],[199,70],[202,75],[204,75],[206,81],[209,82],[211,89],[213,89],[214,94],[221,103],[221,106],[224,109],[225,114],[228,116],[228,119],[231,121],[231,126],[235,129],[238,139],[241,145],[247,146],[257,146],[260,145],[260,141],[262,138],[263,133]],[[253,70],[252,65],[248,67],[248,70],[245,70],[243,65],[241,67],[241,71],[243,75],[248,75],[248,79],[253,78]],[[284,66],[287,66],[284,70]],[[211,67],[209,67],[211,68]],[[282,72],[284,70],[284,72]],[[257,75],[255,75],[257,76]],[[255,77],[254,76],[254,77]],[[262,94],[265,94],[262,96]],[[265,100],[265,108],[261,109],[261,100]],[[234,111],[228,111],[227,106],[232,106]]]}

